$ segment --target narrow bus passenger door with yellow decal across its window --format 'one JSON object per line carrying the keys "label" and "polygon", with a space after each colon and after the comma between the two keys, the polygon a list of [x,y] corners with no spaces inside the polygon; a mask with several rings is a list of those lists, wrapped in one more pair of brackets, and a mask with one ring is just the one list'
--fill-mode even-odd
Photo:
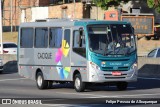
{"label": "narrow bus passenger door with yellow decal across its window", "polygon": [[62,66],[65,69],[70,69],[70,37],[71,37],[71,29],[66,28],[63,30],[63,39],[62,39]]}

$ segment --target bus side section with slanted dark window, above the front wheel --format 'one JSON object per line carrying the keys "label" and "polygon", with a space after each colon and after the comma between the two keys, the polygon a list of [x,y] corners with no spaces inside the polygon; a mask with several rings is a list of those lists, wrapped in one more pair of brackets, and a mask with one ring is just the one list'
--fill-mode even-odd
{"label": "bus side section with slanted dark window, above the front wheel", "polygon": [[[72,35],[71,66],[86,68],[86,43],[83,27],[74,27]],[[78,68],[77,68],[78,69]]]}

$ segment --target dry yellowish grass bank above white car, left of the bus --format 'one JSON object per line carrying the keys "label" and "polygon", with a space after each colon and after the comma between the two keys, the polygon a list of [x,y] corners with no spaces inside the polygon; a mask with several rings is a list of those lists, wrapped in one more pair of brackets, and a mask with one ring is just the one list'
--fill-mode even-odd
{"label": "dry yellowish grass bank above white car, left of the bus", "polygon": [[17,43],[18,32],[3,32],[3,42]]}

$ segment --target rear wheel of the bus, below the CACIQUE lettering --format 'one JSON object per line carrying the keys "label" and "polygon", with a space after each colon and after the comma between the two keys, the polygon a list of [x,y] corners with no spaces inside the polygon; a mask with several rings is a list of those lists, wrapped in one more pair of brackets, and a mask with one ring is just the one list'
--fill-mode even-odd
{"label": "rear wheel of the bus, below the CACIQUE lettering", "polygon": [[39,89],[46,89],[46,88],[48,88],[48,81],[44,80],[42,72],[38,72],[37,73],[36,82],[37,82],[37,87]]}

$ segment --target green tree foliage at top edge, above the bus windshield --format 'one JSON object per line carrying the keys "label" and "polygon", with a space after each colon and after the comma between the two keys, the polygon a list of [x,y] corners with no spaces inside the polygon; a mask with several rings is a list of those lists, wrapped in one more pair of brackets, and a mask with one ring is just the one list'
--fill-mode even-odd
{"label": "green tree foliage at top edge, above the bus windshield", "polygon": [[110,6],[119,6],[121,2],[127,3],[129,0],[92,0],[93,3],[101,7],[103,10],[107,10]]}

